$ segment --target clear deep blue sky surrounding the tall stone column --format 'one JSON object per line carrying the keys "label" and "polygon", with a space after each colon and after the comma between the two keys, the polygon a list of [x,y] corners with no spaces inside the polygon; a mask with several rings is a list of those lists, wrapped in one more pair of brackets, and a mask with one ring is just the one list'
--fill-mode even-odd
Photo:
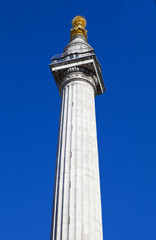
{"label": "clear deep blue sky surrounding the tall stone column", "polygon": [[48,64],[87,19],[104,240],[156,240],[154,0],[14,0],[0,7],[0,239],[49,240],[60,96]]}

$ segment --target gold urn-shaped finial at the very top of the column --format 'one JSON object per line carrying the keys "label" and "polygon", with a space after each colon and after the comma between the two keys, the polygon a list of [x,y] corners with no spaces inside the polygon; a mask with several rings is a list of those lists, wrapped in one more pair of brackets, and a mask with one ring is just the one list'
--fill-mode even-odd
{"label": "gold urn-shaped finial at the very top of the column", "polygon": [[86,24],[87,22],[84,17],[76,16],[72,21],[73,28],[71,29],[70,36],[82,34],[87,38],[87,30],[85,29]]}

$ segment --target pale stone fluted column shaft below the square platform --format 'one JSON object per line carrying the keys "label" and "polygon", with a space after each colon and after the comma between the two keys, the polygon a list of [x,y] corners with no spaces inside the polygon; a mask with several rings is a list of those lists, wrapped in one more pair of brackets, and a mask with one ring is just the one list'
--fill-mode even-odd
{"label": "pale stone fluted column shaft below the square platform", "polygon": [[51,240],[102,240],[94,88],[62,87]]}

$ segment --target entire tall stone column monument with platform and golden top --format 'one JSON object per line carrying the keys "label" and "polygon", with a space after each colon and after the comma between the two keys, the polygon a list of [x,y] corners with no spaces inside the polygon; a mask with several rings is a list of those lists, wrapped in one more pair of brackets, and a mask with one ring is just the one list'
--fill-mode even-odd
{"label": "entire tall stone column monument with platform and golden top", "polygon": [[62,99],[50,240],[102,240],[95,96],[105,86],[85,18],[72,25],[70,43],[50,64]]}

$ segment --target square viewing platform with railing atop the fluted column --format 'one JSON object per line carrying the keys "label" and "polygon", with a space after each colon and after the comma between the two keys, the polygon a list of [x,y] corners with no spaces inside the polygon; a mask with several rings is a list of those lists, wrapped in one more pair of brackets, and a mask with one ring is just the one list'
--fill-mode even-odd
{"label": "square viewing platform with railing atop the fluted column", "polygon": [[49,66],[58,88],[65,70],[73,68],[73,71],[76,71],[75,67],[82,67],[85,69],[85,73],[95,76],[94,81],[97,88],[97,95],[106,91],[102,78],[101,66],[96,58],[94,50],[56,55],[51,58]]}

